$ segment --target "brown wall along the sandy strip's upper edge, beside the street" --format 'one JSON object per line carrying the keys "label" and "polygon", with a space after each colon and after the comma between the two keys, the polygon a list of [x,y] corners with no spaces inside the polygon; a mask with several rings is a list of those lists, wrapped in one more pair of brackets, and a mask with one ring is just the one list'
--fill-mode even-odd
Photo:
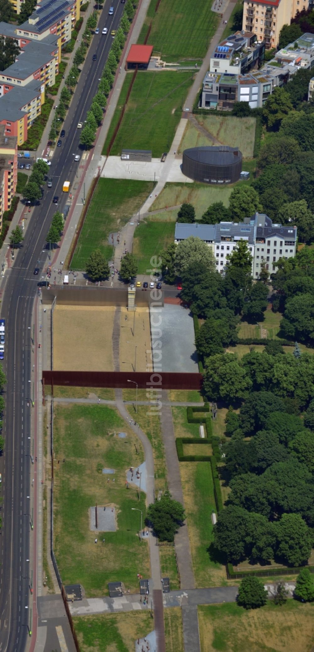
{"label": "brown wall along the sandy strip's upper edge, beside the street", "polygon": [[[80,288],[50,286],[49,289],[42,288],[42,303],[52,305],[56,297],[57,304],[72,306],[127,306],[127,288]],[[164,293],[160,299],[161,305],[164,304]],[[155,303],[151,298],[149,291],[144,292],[136,289],[135,303],[139,308],[145,308],[150,303]],[[157,303],[157,302],[156,302]]]}

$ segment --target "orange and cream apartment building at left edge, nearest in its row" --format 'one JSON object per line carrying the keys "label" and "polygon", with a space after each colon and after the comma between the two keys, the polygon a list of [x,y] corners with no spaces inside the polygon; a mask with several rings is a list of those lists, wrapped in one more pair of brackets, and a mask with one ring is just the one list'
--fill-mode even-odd
{"label": "orange and cream apartment building at left edge, nearest in its row", "polygon": [[10,208],[18,179],[18,143],[0,129],[0,231],[4,211]]}

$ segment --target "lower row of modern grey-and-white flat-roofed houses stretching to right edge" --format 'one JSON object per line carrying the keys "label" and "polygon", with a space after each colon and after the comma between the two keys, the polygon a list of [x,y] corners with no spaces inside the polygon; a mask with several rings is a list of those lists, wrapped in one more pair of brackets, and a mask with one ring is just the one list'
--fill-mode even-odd
{"label": "lower row of modern grey-and-white flat-roofed houses stretching to right edge", "polygon": [[[203,80],[200,106],[206,109],[232,110],[234,102],[248,102],[250,108],[262,107],[274,88],[283,86],[300,68],[314,67],[314,35],[305,33],[259,70],[230,74],[210,70]],[[311,82],[310,82],[311,87]]]}

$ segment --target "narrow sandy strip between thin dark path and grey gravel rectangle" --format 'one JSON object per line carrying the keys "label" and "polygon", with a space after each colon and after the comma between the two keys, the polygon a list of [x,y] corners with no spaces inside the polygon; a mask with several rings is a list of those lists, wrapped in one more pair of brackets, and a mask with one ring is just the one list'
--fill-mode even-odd
{"label": "narrow sandy strip between thin dark path and grey gravel rectangle", "polygon": [[135,312],[128,312],[127,308],[122,307],[120,326],[120,370],[146,371],[148,366],[151,366],[150,325],[147,308],[136,308]]}

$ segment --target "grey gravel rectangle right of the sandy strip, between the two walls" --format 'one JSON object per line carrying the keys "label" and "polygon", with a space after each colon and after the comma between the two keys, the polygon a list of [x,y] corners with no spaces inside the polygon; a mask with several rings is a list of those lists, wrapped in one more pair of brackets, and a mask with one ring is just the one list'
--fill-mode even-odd
{"label": "grey gravel rectangle right of the sandy strip, between the two walls", "polygon": [[[159,319],[159,316],[161,319]],[[187,308],[165,304],[161,312],[151,314],[152,344],[161,341],[161,348],[155,348],[154,370],[163,372],[198,373],[193,317]],[[155,327],[154,324],[160,325]],[[159,333],[160,331],[160,333]]]}

